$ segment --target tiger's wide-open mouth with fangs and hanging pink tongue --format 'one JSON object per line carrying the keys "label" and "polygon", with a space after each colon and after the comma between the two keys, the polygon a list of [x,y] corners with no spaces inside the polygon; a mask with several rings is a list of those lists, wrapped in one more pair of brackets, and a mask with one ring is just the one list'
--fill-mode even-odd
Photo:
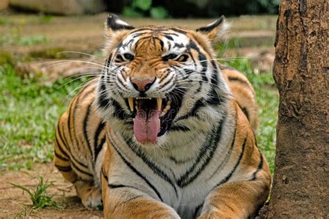
{"label": "tiger's wide-open mouth with fangs and hanging pink tongue", "polygon": [[169,130],[174,105],[166,98],[128,98],[133,112],[133,131],[140,143],[154,143]]}

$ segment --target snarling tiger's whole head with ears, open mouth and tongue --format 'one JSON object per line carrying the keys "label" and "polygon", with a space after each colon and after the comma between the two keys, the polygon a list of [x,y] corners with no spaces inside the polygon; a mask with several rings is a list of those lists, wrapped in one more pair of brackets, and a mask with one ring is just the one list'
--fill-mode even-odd
{"label": "snarling tiger's whole head with ears, open mouth and tongue", "polygon": [[110,15],[106,27],[95,103],[113,130],[140,145],[163,146],[219,121],[230,96],[212,49],[227,28],[223,17],[189,30],[134,28]]}

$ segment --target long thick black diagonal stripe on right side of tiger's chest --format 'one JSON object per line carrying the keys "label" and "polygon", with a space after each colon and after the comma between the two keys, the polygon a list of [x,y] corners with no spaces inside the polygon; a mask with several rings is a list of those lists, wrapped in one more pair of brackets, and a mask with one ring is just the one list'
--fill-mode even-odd
{"label": "long thick black diagonal stripe on right side of tiger's chest", "polygon": [[[212,159],[214,152],[217,149],[217,146],[219,145],[219,142],[221,141],[221,134],[223,130],[223,124],[226,121],[226,115],[223,116],[221,121],[219,121],[219,124],[217,125],[217,128],[215,130],[212,130],[207,137],[205,138],[206,141],[203,143],[203,146],[201,147],[199,151],[199,155],[194,162],[194,164],[185,172],[185,174],[178,179],[178,186],[184,187],[190,184],[191,182],[196,179],[196,177],[199,176],[199,174],[202,172],[202,170],[208,166],[210,160]],[[203,161],[203,164],[201,164],[201,167],[196,170],[196,167],[199,166],[199,164]]]}

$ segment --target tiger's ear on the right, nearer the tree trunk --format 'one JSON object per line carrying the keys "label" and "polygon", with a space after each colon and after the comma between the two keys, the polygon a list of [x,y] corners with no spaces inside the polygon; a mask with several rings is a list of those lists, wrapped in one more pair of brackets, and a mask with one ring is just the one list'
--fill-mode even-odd
{"label": "tiger's ear on the right, nearer the tree trunk", "polygon": [[219,40],[219,38],[228,32],[230,24],[225,21],[225,17],[222,15],[216,21],[208,24],[207,26],[197,28],[196,32],[206,35],[211,42]]}

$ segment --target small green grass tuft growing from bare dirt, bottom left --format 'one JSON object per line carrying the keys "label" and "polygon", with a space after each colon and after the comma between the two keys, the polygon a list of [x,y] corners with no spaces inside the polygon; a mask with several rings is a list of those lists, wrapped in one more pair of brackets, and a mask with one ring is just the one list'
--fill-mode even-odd
{"label": "small green grass tuft growing from bare dirt, bottom left", "polygon": [[44,181],[43,177],[39,177],[39,183],[34,190],[17,184],[12,185],[18,189],[22,189],[23,192],[28,193],[32,201],[31,209],[37,210],[46,207],[55,207],[56,209],[62,208],[60,204],[53,200],[53,196],[49,196],[47,193],[47,189],[53,185],[53,182],[48,182],[48,180]]}

